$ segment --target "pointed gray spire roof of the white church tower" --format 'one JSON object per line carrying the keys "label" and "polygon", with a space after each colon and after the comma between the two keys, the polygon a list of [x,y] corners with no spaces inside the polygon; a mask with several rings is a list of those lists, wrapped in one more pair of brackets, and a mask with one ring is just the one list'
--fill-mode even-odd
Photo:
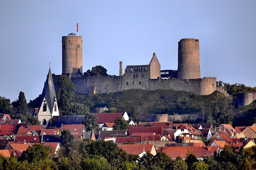
{"label": "pointed gray spire roof of the white church tower", "polygon": [[39,104],[39,109],[42,105],[44,97],[45,97],[45,100],[46,100],[49,108],[51,108],[50,112],[52,112],[53,106],[54,106],[54,100],[56,98],[56,94],[55,94],[55,88],[54,88],[53,79],[52,79],[51,66],[49,68],[48,76],[46,78],[44,89],[42,91],[42,96],[41,96],[41,100],[40,100],[40,104]]}

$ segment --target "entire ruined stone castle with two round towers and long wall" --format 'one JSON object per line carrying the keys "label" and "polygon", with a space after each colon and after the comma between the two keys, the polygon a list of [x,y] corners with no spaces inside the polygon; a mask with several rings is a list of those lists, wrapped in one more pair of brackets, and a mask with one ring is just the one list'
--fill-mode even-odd
{"label": "entire ruined stone castle with two round towers and long wall", "polygon": [[[161,70],[156,53],[149,64],[130,65],[123,70],[120,61],[119,76],[83,76],[82,37],[68,34],[62,37],[62,74],[76,85],[76,93],[96,94],[128,89],[173,89],[208,95],[216,90],[215,77],[203,77],[199,65],[199,40],[181,39],[178,42],[178,69]],[[123,73],[124,71],[124,73]],[[57,78],[53,74],[55,90]]]}

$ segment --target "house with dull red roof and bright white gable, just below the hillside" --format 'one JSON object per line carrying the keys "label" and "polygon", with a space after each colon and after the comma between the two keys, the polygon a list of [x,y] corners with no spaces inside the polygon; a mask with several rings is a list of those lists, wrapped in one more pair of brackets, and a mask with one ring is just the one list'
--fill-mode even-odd
{"label": "house with dull red roof and bright white gable, just below the hillside", "polygon": [[93,113],[98,116],[98,120],[96,121],[99,124],[99,127],[101,128],[104,123],[114,123],[118,116],[123,116],[124,120],[128,121],[129,116],[126,112],[120,112],[120,113]]}

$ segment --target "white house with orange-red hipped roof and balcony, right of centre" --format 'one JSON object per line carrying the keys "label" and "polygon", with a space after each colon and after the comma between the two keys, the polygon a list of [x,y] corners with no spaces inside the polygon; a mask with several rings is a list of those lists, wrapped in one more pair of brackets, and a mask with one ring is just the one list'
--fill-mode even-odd
{"label": "white house with orange-red hipped roof and balcony, right of centre", "polygon": [[195,130],[194,127],[191,125],[186,125],[184,124],[181,126],[176,132],[174,133],[174,139],[177,139],[177,136],[183,137],[183,141],[186,139],[196,139],[196,140],[201,140],[200,134],[198,133],[197,130]]}

